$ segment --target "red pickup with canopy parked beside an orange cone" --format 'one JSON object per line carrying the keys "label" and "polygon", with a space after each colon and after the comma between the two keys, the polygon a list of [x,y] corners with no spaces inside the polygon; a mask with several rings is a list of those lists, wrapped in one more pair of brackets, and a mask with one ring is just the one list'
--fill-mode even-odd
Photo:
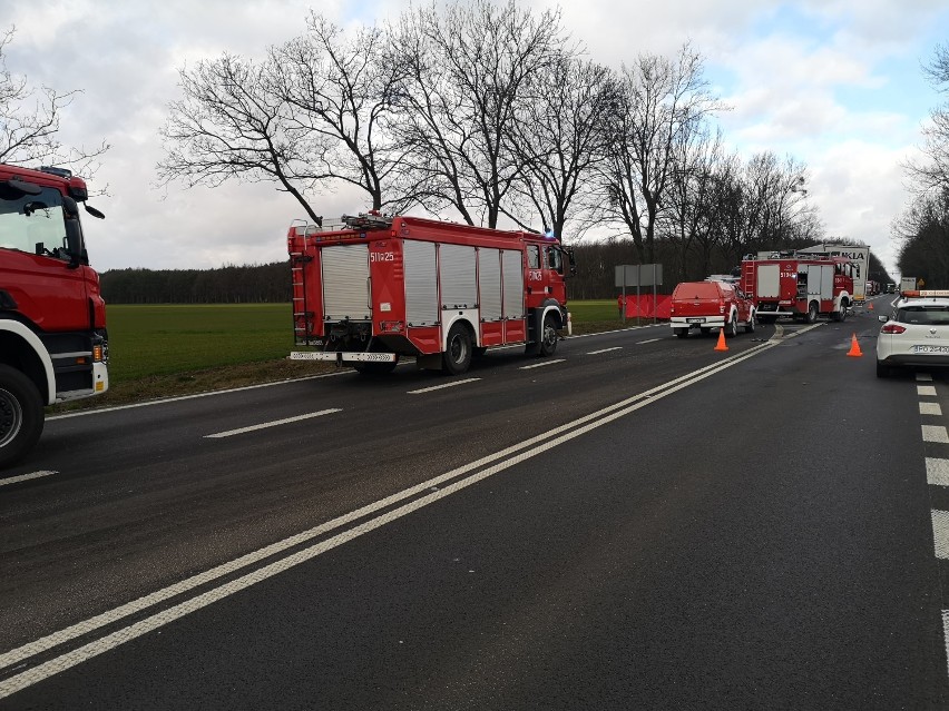
{"label": "red pickup with canopy parked beside an orange cone", "polygon": [[683,282],[673,292],[669,325],[679,338],[685,338],[693,328],[703,335],[713,328],[724,328],[726,336],[735,336],[740,324],[745,332],[754,333],[754,304],[735,284]]}

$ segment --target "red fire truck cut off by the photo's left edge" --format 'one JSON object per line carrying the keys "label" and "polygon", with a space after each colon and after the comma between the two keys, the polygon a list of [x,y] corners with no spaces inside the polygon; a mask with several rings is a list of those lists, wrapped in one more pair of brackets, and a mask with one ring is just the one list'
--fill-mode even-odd
{"label": "red fire truck cut off by the photo's left edge", "polygon": [[45,405],[109,387],[106,307],[79,223],[87,198],[68,170],[0,165],[0,467],[37,443]]}

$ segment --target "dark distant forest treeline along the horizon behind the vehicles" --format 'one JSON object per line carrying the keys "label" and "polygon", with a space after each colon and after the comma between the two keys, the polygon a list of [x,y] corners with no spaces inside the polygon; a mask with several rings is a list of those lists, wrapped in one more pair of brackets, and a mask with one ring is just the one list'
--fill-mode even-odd
{"label": "dark distant forest treeline along the horizon behind the vehicles", "polygon": [[[782,245],[781,249],[813,244]],[[632,240],[579,243],[574,247],[577,275],[567,285],[571,299],[616,298],[615,267],[637,264]],[[691,250],[671,240],[656,241],[657,264],[663,265],[659,294],[671,294],[679,282],[703,279],[711,274],[727,274],[738,266],[741,255],[724,246]],[[870,255],[871,278],[889,280],[877,257]],[[254,266],[226,266],[217,269],[112,269],[101,275],[102,295],[109,304],[262,304],[290,303],[290,263]],[[649,288],[652,290],[652,288]]]}

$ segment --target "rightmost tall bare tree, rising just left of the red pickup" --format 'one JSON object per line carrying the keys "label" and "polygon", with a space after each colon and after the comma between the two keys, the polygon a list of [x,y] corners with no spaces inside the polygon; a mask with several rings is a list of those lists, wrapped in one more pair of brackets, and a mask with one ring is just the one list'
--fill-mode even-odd
{"label": "rightmost tall bare tree, rising just left of the red pickup", "polygon": [[612,150],[600,174],[604,219],[633,237],[640,261],[652,261],[659,213],[675,169],[675,151],[721,108],[702,77],[703,60],[686,43],[675,60],[642,55],[624,66]]}

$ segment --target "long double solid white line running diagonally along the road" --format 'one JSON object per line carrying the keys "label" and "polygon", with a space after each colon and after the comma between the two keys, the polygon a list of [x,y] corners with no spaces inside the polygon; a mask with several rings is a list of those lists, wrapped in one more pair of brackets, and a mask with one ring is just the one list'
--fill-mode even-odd
{"label": "long double solid white line running diagonally along the road", "polygon": [[[216,589],[209,590],[192,600],[184,601],[173,608],[169,608],[168,610],[164,610],[148,618],[145,618],[127,628],[116,630],[115,632],[107,634],[106,636],[99,640],[92,640],[78,649],[66,652],[38,666],[35,666],[27,671],[22,671],[19,674],[2,680],[0,681],[0,699],[4,699],[10,694],[20,691],[21,689],[26,689],[27,687],[38,683],[43,679],[47,679],[61,671],[70,669],[88,659],[91,659],[92,656],[115,649],[116,646],[119,646],[125,642],[136,639],[174,620],[177,620],[188,614],[189,612],[199,610],[200,608],[216,602],[217,600],[221,600],[229,594],[233,594],[239,590],[244,590],[245,587],[250,587],[251,585],[257,582],[276,575],[277,573],[281,573],[304,561],[313,559],[337,545],[341,545],[342,543],[345,543],[362,535],[363,533],[368,533],[369,531],[390,523],[391,521],[394,521],[395,519],[399,519],[408,513],[417,511],[418,508],[421,508],[432,502],[439,501],[440,498],[453,494],[471,484],[474,484],[476,482],[479,482],[493,474],[497,474],[498,472],[515,466],[516,464],[519,464],[525,460],[537,456],[544,452],[547,452],[548,450],[551,450],[555,446],[558,446],[565,442],[574,440],[575,437],[579,437],[580,435],[591,432],[597,427],[619,419],[620,417],[624,417],[629,413],[646,407],[647,405],[663,397],[666,397],[667,395],[672,395],[673,393],[688,387],[689,385],[698,383],[699,381],[704,381],[705,378],[711,377],[716,373],[730,368],[733,365],[737,365],[738,363],[754,357],[759,353],[763,353],[764,350],[770,349],[774,345],[776,345],[776,343],[765,343],[760,346],[750,348],[749,350],[742,354],[727,357],[717,363],[713,363],[712,365],[707,365],[703,368],[699,368],[698,371],[695,371],[687,375],[683,375],[678,378],[669,381],[668,383],[664,383],[654,388],[639,393],[638,395],[634,395],[618,403],[614,403],[613,405],[604,407],[603,409],[599,409],[595,413],[590,413],[565,425],[555,427],[554,429],[546,432],[541,435],[531,437],[516,445],[507,447],[500,452],[490,454],[486,457],[478,460],[477,462],[471,462],[456,470],[436,476],[434,478],[431,478],[427,482],[417,484],[415,486],[407,488],[402,492],[392,494],[387,498],[363,506],[358,511],[353,511],[349,514],[340,516],[339,519],[321,524],[314,529],[311,529],[310,531],[305,531],[295,536],[291,536],[290,539],[285,539],[284,541],[278,541],[277,543],[271,544],[270,546],[266,546],[253,553],[248,553],[247,555],[244,555],[235,561],[224,563],[223,565],[218,565],[215,569],[212,569],[204,573],[199,573],[198,575],[194,575],[179,583],[154,592],[149,595],[145,595],[144,598],[140,598],[138,600],[134,600],[129,603],[120,605],[114,610],[99,614],[84,622],[74,624],[70,628],[66,628],[65,630],[60,630],[45,638],[25,644],[20,648],[2,653],[0,654],[0,669],[8,668],[12,664],[21,662],[22,660],[29,659],[30,656],[46,652],[55,646],[58,646],[59,644],[68,642],[69,640],[74,640],[84,634],[94,632],[105,625],[112,624],[116,621],[121,620],[123,618],[126,618],[130,614],[147,610],[148,608],[162,601],[168,600],[175,595],[179,595],[194,587],[197,587],[198,585],[204,585],[223,575],[245,567],[251,563],[262,561],[278,552],[285,551],[295,545],[300,545],[301,543],[322,535],[323,533],[340,527],[345,523],[358,521],[359,519],[362,519],[369,515],[370,513],[387,508],[399,501],[402,501],[410,496],[415,496],[423,491],[432,490],[433,487],[439,486],[444,482],[458,480],[459,476],[469,472],[476,472],[474,474],[471,474],[466,478],[452,482],[444,488],[439,488],[438,491],[434,491],[425,496],[403,504],[399,508],[389,511],[381,516],[365,521],[349,531],[344,531],[331,539],[315,543],[310,547],[299,551],[283,560],[275,561],[257,571],[247,573],[242,577],[235,579]],[[491,463],[495,464],[492,464],[491,466],[487,466]],[[482,468],[486,466],[487,468]]]}

